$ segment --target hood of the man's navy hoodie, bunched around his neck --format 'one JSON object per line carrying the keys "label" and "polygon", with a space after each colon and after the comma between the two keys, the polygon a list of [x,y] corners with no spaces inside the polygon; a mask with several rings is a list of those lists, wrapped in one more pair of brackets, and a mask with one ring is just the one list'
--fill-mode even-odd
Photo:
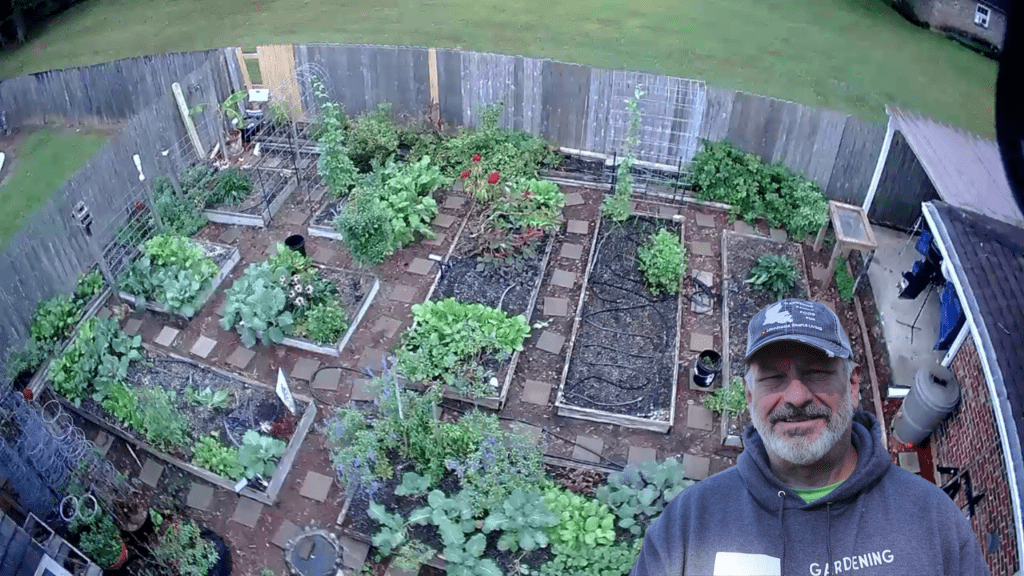
{"label": "hood of the man's navy hoodie, bunched around his neck", "polygon": [[854,411],[850,438],[857,449],[857,467],[839,488],[816,502],[805,503],[772,474],[768,452],[754,424],[749,424],[743,430],[745,448],[739,455],[736,466],[751,495],[765,508],[778,509],[779,492],[785,494],[783,500],[786,508],[842,504],[845,500],[856,498],[860,492],[882,480],[892,464],[889,452],[882,446],[881,425],[869,412]]}

